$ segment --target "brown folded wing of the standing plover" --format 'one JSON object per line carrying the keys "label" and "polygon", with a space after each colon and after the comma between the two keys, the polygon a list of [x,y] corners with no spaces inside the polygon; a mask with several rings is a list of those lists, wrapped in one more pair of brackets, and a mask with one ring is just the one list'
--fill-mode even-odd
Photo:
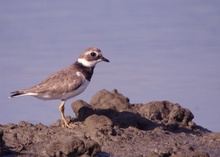
{"label": "brown folded wing of the standing plover", "polygon": [[84,77],[81,77],[80,75],[77,75],[77,72],[66,68],[49,76],[38,85],[23,90],[23,92],[62,95],[76,90],[84,81]]}

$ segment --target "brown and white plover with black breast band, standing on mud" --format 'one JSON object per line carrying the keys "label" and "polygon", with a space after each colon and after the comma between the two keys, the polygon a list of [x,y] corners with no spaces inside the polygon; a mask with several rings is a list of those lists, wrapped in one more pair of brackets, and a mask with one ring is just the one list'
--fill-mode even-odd
{"label": "brown and white plover with black breast band, standing on mud", "polygon": [[31,88],[12,92],[9,98],[31,95],[43,100],[60,99],[59,111],[64,126],[72,128],[65,119],[65,102],[86,89],[96,64],[101,61],[109,62],[108,59],[102,56],[100,49],[94,47],[87,48],[80,54],[74,64],[50,75],[44,81]]}

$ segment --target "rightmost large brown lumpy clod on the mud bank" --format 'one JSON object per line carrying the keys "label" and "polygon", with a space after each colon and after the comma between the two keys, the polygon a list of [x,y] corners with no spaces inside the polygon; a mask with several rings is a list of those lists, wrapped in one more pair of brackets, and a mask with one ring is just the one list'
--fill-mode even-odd
{"label": "rightmost large brown lumpy clod on the mud bank", "polygon": [[189,129],[195,126],[192,123],[193,114],[179,104],[172,104],[168,101],[149,102],[140,107],[138,111],[143,117],[146,117],[154,122],[164,124],[167,128],[185,127]]}

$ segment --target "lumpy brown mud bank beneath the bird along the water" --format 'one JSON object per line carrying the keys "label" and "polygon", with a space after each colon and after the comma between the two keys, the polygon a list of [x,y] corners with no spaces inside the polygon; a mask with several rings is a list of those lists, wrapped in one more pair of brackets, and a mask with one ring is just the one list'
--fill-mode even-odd
{"label": "lumpy brown mud bank beneath the bird along the water", "polygon": [[218,156],[220,133],[197,126],[179,104],[130,104],[117,90],[101,90],[90,104],[72,103],[76,117],[43,124],[0,125],[1,156]]}

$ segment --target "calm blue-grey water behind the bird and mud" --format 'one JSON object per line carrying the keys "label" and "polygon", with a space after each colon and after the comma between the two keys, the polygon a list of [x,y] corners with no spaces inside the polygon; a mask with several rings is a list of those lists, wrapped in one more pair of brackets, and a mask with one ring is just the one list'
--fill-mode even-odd
{"label": "calm blue-grey water behind the bird and mud", "polygon": [[220,131],[219,1],[0,1],[0,124],[52,124],[60,101],[8,99],[99,47],[99,63],[84,93],[117,89],[131,103],[169,100],[194,121]]}

